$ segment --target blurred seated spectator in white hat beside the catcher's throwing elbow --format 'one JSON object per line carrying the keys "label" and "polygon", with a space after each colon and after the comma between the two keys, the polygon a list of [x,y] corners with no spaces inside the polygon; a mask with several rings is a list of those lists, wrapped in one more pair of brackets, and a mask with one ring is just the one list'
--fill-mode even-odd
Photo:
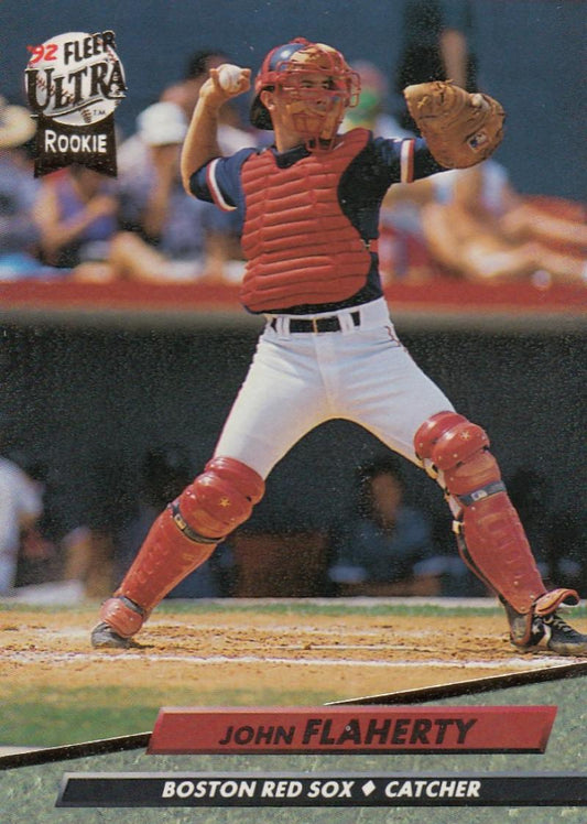
{"label": "blurred seated spectator in white hat beside the catcher's throwing elbow", "polygon": [[[119,155],[124,232],[111,263],[123,278],[155,282],[220,281],[240,263],[238,224],[231,213],[189,197],[180,177],[180,153],[187,131],[182,109],[156,102],[138,118],[129,138],[141,152]],[[137,156],[143,161],[137,163]],[[126,160],[128,159],[128,160]]]}

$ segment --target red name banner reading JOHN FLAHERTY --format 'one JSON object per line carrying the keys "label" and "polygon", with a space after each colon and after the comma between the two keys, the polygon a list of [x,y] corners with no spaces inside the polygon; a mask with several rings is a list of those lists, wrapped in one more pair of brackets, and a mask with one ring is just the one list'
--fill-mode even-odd
{"label": "red name banner reading JOHN FLAHERTY", "polygon": [[555,706],[162,707],[148,753],[544,752]]}

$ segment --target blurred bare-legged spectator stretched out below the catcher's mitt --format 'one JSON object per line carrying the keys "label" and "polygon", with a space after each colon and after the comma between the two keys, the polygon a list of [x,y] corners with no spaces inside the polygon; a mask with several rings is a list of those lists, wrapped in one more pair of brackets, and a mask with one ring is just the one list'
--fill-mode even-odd
{"label": "blurred bare-legged spectator stretched out below the catcher's mitt", "polygon": [[[452,183],[448,202],[422,207],[431,254],[447,272],[475,282],[531,279],[587,285],[587,229],[565,216],[564,202],[524,198],[494,161],[439,175]],[[568,207],[572,204],[567,204]],[[555,208],[556,210],[556,208]],[[578,218],[578,214],[577,214]]]}

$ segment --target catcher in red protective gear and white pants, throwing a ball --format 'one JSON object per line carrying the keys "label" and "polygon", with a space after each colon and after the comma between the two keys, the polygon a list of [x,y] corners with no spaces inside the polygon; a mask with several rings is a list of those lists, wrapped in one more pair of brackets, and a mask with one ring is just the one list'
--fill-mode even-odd
{"label": "catcher in red protective gear and white pants, throwing a ball", "polygon": [[131,643],[160,600],[261,500],[265,478],[313,427],[355,421],[442,486],[460,553],[499,595],[520,650],[587,653],[558,614],[570,589],[546,592],[486,432],[458,414],[402,346],[378,273],[378,218],[394,183],[467,166],[501,139],[503,111],[452,84],[405,90],[423,138],[338,133],[359,78],[335,48],[296,39],[265,57],[251,121],[273,145],[222,158],[218,111],[250,71],[210,69],[182,153],[186,189],[240,212],[241,301],[267,324],[214,456],[159,516],[100,610],[95,647]]}

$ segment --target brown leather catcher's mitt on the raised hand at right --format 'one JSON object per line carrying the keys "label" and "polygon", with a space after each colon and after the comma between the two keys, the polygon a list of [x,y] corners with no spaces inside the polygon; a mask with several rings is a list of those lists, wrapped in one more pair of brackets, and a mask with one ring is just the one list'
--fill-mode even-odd
{"label": "brown leather catcher's mitt on the raised hand at right", "polygon": [[469,94],[450,80],[407,86],[403,95],[433,156],[446,169],[475,166],[501,143],[506,112],[488,95]]}

